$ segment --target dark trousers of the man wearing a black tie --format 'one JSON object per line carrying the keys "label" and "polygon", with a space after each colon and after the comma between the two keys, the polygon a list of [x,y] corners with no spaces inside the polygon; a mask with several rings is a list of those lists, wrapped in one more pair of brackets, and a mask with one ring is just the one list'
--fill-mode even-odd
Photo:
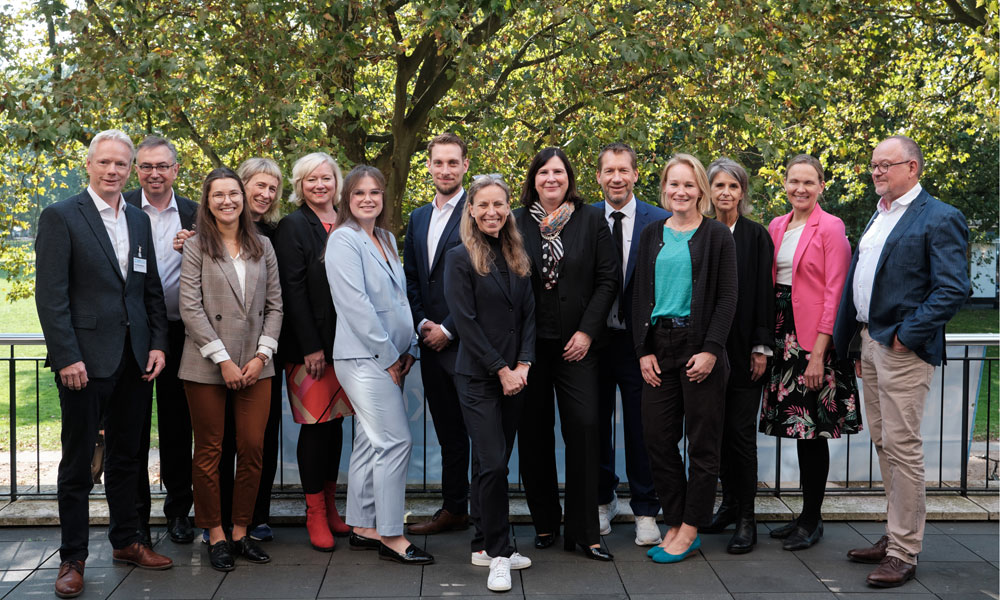
{"label": "dark trousers of the man wearing a black tie", "polygon": [[614,414],[616,390],[622,396],[622,425],[625,434],[625,473],[631,493],[629,505],[636,516],[655,517],[660,501],[653,486],[653,473],[642,437],[642,372],[635,356],[632,332],[609,329],[608,343],[600,350],[598,370],[600,398],[601,475],[597,484],[598,504],[608,504],[618,487],[615,473]]}

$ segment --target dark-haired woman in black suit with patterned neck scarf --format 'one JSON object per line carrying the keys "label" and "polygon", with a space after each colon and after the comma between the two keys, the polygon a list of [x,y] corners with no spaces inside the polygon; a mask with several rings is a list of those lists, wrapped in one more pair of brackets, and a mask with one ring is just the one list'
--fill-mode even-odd
{"label": "dark-haired woman in black suit with patterned neck scarf", "polygon": [[604,212],[583,203],[566,154],[545,148],[531,161],[514,212],[531,258],[535,357],[527,409],[518,426],[521,481],[535,523],[535,547],[559,534],[555,409],[566,443],[566,550],[611,560],[600,546],[597,519],[599,440],[597,353],[618,293],[621,261]]}

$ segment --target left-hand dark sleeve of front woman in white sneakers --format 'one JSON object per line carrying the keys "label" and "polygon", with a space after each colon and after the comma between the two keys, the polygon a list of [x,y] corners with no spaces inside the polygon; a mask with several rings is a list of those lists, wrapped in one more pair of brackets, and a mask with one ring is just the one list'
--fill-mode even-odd
{"label": "left-hand dark sleeve of front woman in white sneakers", "polygon": [[[462,340],[462,351],[468,352],[488,373],[495,374],[507,366],[507,361],[493,347],[486,332],[479,326],[476,285],[481,283],[477,281],[480,277],[472,269],[468,251],[464,246],[457,246],[449,251],[445,261],[445,299],[448,303],[448,312],[451,313]],[[489,315],[483,315],[482,318],[489,318]]]}

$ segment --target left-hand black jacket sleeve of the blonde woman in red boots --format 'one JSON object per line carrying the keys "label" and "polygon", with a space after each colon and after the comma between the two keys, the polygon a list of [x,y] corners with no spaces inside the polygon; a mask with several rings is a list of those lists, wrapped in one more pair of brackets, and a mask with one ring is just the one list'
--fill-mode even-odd
{"label": "left-hand black jacket sleeve of the blonde woman in red boots", "polygon": [[323,341],[309,302],[308,252],[303,246],[312,243],[313,237],[308,231],[308,226],[301,213],[292,213],[278,224],[274,243],[285,327],[291,327],[302,352],[302,356],[284,358],[295,363],[301,362],[306,354],[318,350],[329,351],[323,348]]}

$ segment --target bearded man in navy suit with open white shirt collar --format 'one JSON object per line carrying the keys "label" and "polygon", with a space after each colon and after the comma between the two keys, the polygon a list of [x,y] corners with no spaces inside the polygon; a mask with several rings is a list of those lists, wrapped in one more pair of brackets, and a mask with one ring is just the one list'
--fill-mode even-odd
{"label": "bearded man in navy suit with open white shirt collar", "polygon": [[444,503],[429,521],[410,525],[426,535],[469,526],[469,434],[455,390],[458,340],[444,294],[444,256],[462,243],[458,224],[465,208],[462,179],[469,159],[462,138],[443,133],[427,145],[427,170],[434,180],[434,201],[410,214],[403,247],[406,291],[420,338],[420,377],[441,444],[441,495]]}

